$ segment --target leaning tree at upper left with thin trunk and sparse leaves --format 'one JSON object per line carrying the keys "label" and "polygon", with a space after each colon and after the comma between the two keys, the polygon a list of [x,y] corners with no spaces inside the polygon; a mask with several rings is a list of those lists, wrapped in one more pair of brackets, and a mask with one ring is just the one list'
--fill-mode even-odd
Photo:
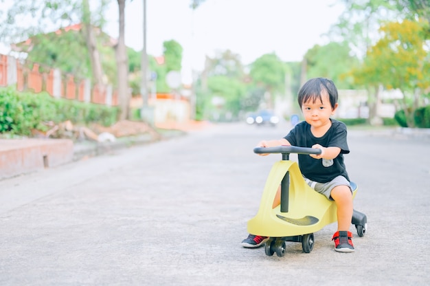
{"label": "leaning tree at upper left with thin trunk and sparse leaves", "polygon": [[[103,14],[105,9],[106,1],[101,1],[95,14]],[[26,21],[21,21],[22,19]],[[28,25],[29,23],[30,25]],[[91,63],[90,68],[93,83],[103,87],[104,72],[97,41],[95,40],[94,29],[95,27],[102,27],[104,19],[102,17],[93,17],[93,14],[89,10],[88,0],[14,1],[14,4],[8,8],[6,19],[1,25],[3,29],[0,39],[5,41],[5,43],[19,43],[20,41],[37,36],[38,41],[42,41],[43,34],[46,34],[47,31],[58,31],[61,28],[76,25],[76,23],[82,24],[82,30],[80,30],[82,33],[71,35],[77,36],[78,43],[82,44],[81,47],[77,47],[78,50],[87,50],[88,56],[84,58],[89,58],[89,62]],[[71,41],[70,44],[74,45],[73,42],[76,42],[76,39]],[[52,60],[58,56],[56,47],[52,43],[49,51],[51,52],[50,56]],[[70,51],[75,52],[72,49]],[[78,53],[73,54],[73,56],[78,56]],[[40,55],[41,52],[39,52]],[[80,60],[82,61],[82,58]]]}

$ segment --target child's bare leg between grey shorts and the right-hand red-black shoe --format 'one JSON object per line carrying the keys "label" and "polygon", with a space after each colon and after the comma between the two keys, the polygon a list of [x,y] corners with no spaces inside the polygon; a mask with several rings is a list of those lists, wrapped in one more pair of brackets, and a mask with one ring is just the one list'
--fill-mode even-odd
{"label": "child's bare leg between grey shorts and the right-hand red-black shoe", "polygon": [[348,186],[336,186],[331,191],[331,197],[337,206],[337,230],[348,231],[352,221],[352,193]]}

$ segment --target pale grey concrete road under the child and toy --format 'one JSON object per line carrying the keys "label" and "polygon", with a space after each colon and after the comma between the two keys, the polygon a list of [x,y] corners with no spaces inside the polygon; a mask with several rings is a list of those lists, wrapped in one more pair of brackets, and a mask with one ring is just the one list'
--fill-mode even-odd
{"label": "pale grey concrete road under the child and toy", "polygon": [[350,130],[346,155],[368,230],[337,253],[246,249],[288,125],[222,124],[0,181],[0,285],[429,285],[429,141]]}

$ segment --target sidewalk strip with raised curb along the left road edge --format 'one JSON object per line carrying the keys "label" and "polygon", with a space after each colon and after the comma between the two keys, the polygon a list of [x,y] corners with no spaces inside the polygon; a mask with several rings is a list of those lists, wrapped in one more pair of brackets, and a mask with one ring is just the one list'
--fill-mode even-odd
{"label": "sidewalk strip with raised curb along the left road edge", "polygon": [[69,139],[0,139],[0,179],[8,179],[43,168],[50,168],[80,159],[109,153],[118,148],[150,144],[159,140],[186,135],[188,132],[208,128],[208,122],[171,122],[159,124],[161,137],[149,133],[117,137],[113,142]]}

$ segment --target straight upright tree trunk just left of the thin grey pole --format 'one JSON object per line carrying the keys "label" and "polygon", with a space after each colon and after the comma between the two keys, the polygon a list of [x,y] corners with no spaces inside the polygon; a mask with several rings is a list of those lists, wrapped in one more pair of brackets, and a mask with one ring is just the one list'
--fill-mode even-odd
{"label": "straight upright tree trunk just left of the thin grey pole", "polygon": [[130,91],[128,91],[128,57],[126,52],[126,44],[124,41],[124,10],[125,0],[118,1],[118,10],[120,12],[120,33],[118,43],[116,45],[117,59],[117,75],[118,75],[118,100],[120,103],[120,120],[128,118],[128,110],[130,107]]}

